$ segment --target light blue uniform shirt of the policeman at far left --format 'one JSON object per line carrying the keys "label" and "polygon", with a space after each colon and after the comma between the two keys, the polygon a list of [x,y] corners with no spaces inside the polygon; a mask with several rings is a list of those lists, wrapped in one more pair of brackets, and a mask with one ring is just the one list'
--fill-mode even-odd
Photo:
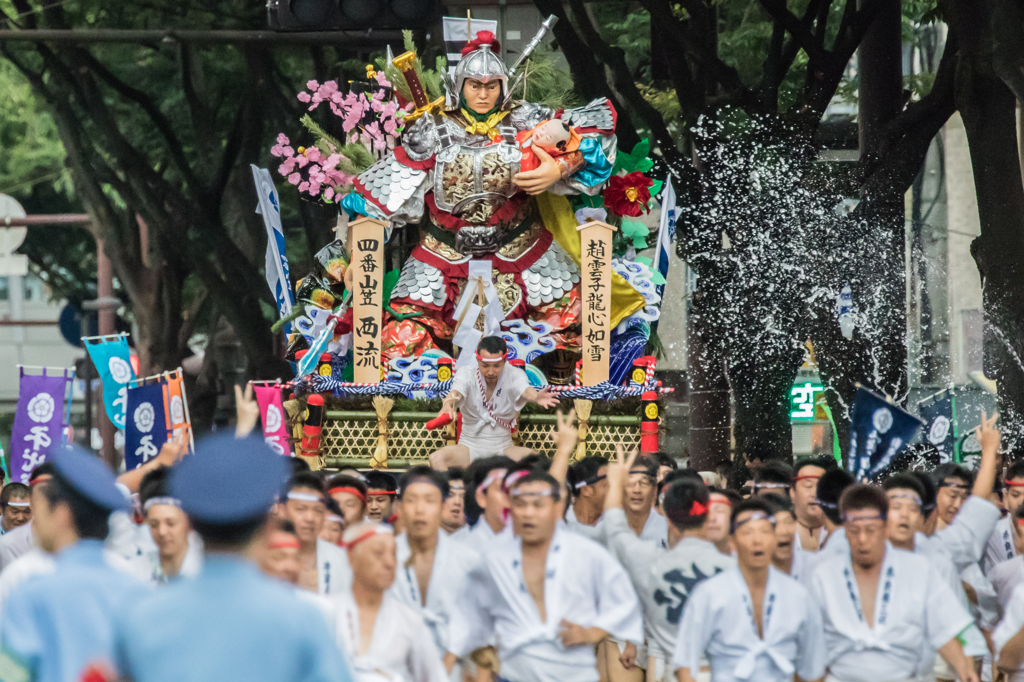
{"label": "light blue uniform shirt of the policeman at far left", "polygon": [[[86,666],[114,660],[115,617],[147,592],[106,562],[102,541],[80,540],[57,555],[52,573],[29,580],[4,601],[3,652],[38,682],[77,681]],[[0,662],[7,674],[10,665]]]}

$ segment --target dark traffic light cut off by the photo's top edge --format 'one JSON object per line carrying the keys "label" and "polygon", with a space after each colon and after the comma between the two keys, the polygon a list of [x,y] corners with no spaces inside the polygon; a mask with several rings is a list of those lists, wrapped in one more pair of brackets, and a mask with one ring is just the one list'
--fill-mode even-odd
{"label": "dark traffic light cut off by the photo's top edge", "polygon": [[425,29],[440,22],[441,0],[268,0],[276,31]]}

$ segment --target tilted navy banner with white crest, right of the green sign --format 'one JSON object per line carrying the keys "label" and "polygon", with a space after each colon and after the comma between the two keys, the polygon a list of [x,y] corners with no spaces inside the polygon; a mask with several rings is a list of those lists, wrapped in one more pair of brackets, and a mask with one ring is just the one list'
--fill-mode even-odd
{"label": "tilted navy banner with white crest, right of the green sign", "polygon": [[857,480],[881,473],[925,424],[863,386],[853,398],[851,421],[849,469]]}

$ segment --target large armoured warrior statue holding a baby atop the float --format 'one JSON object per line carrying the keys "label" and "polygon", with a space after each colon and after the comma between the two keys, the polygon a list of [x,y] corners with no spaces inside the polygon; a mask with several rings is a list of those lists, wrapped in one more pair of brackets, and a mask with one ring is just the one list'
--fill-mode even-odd
{"label": "large armoured warrior statue holding a baby atop the float", "polygon": [[[528,319],[551,325],[557,348],[579,352],[580,270],[545,227],[542,195],[601,191],[615,160],[615,112],[604,98],[573,110],[513,100],[509,71],[494,36],[478,33],[446,81],[450,105],[420,116],[353,183],[356,210],[391,228],[428,218],[391,294],[398,315],[385,316],[388,359],[450,350],[463,322],[457,312],[473,309],[460,299],[467,278],[480,276],[479,261],[490,263],[490,281],[480,284],[500,312],[490,301],[488,313],[468,321],[474,342],[461,345],[472,352],[479,336],[498,332],[496,322]],[[482,304],[477,289],[466,295]]]}

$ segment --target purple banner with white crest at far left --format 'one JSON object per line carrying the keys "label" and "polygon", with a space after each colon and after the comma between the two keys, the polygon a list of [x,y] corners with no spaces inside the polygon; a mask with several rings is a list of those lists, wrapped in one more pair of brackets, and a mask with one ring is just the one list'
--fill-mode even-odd
{"label": "purple banner with white crest at far left", "polygon": [[10,434],[10,478],[28,484],[32,470],[63,443],[65,393],[70,371],[31,375],[20,370],[17,412]]}

